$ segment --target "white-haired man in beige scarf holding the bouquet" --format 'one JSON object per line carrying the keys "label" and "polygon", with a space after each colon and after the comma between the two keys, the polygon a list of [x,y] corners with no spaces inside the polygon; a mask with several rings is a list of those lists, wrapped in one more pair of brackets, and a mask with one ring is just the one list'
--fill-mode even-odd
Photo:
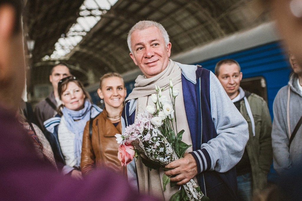
{"label": "white-haired man in beige scarf holding the bouquet", "polygon": [[[162,96],[169,97],[171,77],[173,88],[179,89],[173,109],[177,113],[177,131],[175,121],[171,127],[176,133],[184,130],[181,141],[192,145],[183,158],[165,165],[165,170],[150,171],[140,156],[132,162],[124,161],[130,162],[127,165],[128,178],[133,178],[130,183],[136,184],[141,193],[169,200],[179,191],[178,185],[193,179],[211,200],[237,200],[233,167],[243,155],[248,127],[216,76],[201,66],[183,65],[169,59],[169,36],[156,22],[140,21],[134,25],[128,34],[128,46],[130,57],[144,75],[137,77],[135,88],[126,99],[121,119],[123,135],[126,126],[135,123],[141,111],[154,105],[155,86],[164,88]],[[162,185],[164,173],[171,176],[170,181],[176,186]]]}

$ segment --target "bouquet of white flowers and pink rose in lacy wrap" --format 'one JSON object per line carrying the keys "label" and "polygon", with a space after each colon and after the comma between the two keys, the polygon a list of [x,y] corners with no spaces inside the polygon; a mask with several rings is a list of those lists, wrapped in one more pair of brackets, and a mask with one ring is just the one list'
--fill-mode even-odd
{"label": "bouquet of white flowers and pink rose in lacy wrap", "polygon": [[[172,161],[182,158],[185,151],[191,146],[182,142],[184,130],[175,136],[173,121],[176,124],[175,98],[178,89],[173,89],[170,78],[170,98],[162,95],[164,88],[156,86],[156,93],[151,95],[154,105],[148,105],[146,110],[139,111],[137,119],[132,125],[125,129],[123,135],[116,134],[117,142],[120,144],[118,158],[122,165],[127,165],[133,157],[141,155],[143,164],[150,170],[164,168]],[[166,185],[175,186],[176,182],[170,182],[170,177],[163,175],[162,184],[164,191]],[[191,179],[181,186],[181,189],[172,195],[170,201],[174,200],[209,200],[200,190],[198,184]]]}

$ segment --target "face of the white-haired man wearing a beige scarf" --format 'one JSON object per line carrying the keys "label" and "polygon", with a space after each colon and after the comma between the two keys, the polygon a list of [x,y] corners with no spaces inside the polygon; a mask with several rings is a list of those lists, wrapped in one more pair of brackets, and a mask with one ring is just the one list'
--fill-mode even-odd
{"label": "face of the white-haired man wearing a beige scarf", "polygon": [[131,35],[130,57],[146,76],[158,75],[168,65],[171,54],[171,43],[165,45],[165,40],[157,27],[136,30]]}

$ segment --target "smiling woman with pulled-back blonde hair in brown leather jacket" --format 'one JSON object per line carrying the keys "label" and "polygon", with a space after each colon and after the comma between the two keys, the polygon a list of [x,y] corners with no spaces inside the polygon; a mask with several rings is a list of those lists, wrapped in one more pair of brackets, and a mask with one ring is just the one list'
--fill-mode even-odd
{"label": "smiling woman with pulled-back blonde hair in brown leather jacket", "polygon": [[88,121],[84,129],[81,155],[81,171],[84,176],[90,174],[94,168],[100,167],[127,174],[125,167],[122,167],[117,159],[119,144],[114,136],[116,133],[122,133],[120,117],[126,94],[120,74],[107,73],[100,78],[98,95],[104,100],[105,108],[90,120],[90,126]]}

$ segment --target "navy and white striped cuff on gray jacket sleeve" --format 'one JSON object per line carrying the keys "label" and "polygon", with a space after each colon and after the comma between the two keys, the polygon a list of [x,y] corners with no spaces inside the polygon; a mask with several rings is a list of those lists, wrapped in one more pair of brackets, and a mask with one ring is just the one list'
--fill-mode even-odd
{"label": "navy and white striped cuff on gray jacket sleeve", "polygon": [[201,173],[211,169],[211,158],[206,149],[199,149],[194,152],[189,152],[193,155],[197,163],[197,173]]}

